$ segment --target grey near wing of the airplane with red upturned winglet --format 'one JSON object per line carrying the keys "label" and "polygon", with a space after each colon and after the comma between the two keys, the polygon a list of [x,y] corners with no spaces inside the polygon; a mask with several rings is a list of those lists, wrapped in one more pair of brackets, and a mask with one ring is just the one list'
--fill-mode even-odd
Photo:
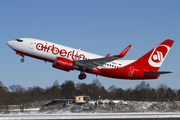
{"label": "grey near wing of the airplane with red upturned winglet", "polygon": [[[90,59],[90,60],[77,60],[75,61],[75,65],[79,67],[85,67],[88,69],[95,69],[98,66],[102,66],[103,64],[117,60],[119,58],[123,58],[126,53],[129,51],[132,45],[129,45],[126,49],[124,49],[120,54],[113,55],[110,57],[104,57],[104,58],[97,58],[97,59]],[[108,55],[109,56],[109,55]]]}

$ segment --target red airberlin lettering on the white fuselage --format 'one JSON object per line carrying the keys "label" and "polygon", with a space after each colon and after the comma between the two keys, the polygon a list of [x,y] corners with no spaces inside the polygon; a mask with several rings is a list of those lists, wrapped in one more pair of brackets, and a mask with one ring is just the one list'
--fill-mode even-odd
{"label": "red airberlin lettering on the white fuselage", "polygon": [[47,43],[45,45],[43,43],[37,43],[36,49],[39,51],[44,51],[44,52],[49,52],[49,50],[51,50],[52,54],[54,55],[59,54],[62,57],[67,57],[67,58],[71,57],[73,60],[80,60],[81,58],[83,58],[83,60],[85,59],[85,55],[83,54],[79,55],[78,51],[75,51],[75,50],[67,51],[66,49],[59,49],[55,47],[54,45],[48,46]]}

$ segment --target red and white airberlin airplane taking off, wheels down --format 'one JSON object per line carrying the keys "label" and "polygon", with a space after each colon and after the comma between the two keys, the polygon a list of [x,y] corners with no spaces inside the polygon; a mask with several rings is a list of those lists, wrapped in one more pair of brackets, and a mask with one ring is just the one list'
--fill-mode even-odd
{"label": "red and white airberlin airplane taking off, wheels down", "polygon": [[118,55],[112,56],[110,54],[100,56],[34,38],[18,38],[8,41],[7,45],[16,54],[22,56],[21,62],[24,62],[24,56],[29,56],[51,62],[52,67],[67,72],[78,70],[80,71],[78,76],[80,80],[86,78],[85,72],[109,78],[145,80],[157,79],[161,74],[172,73],[158,70],[173,43],[173,40],[167,39],[136,60],[118,60],[126,55],[132,45]]}

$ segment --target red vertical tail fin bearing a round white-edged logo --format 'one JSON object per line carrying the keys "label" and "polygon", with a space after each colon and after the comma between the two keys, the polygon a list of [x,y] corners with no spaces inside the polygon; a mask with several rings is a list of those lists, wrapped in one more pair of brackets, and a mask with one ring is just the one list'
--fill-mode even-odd
{"label": "red vertical tail fin bearing a round white-edged logo", "polygon": [[173,40],[165,40],[150,52],[128,66],[132,66],[135,69],[143,71],[158,71],[173,43]]}

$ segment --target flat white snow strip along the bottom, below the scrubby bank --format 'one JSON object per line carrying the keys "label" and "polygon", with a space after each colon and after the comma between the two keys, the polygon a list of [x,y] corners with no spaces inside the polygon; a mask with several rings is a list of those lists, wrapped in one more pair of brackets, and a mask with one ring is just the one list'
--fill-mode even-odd
{"label": "flat white snow strip along the bottom, below the scrubby bank", "polygon": [[7,119],[112,119],[112,118],[180,118],[179,113],[65,113],[65,114],[17,114],[3,115]]}

